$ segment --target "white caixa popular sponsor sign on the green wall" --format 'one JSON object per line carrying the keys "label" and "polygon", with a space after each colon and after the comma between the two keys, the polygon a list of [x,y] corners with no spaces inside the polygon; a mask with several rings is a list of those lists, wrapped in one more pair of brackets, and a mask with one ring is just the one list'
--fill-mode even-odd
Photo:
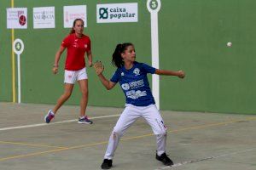
{"label": "white caixa popular sponsor sign on the green wall", "polygon": [[137,3],[97,4],[97,23],[137,22]]}

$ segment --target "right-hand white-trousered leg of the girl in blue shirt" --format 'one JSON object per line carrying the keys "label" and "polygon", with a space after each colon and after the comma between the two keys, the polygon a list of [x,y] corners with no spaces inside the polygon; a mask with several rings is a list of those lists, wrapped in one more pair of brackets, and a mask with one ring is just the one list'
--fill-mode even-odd
{"label": "right-hand white-trousered leg of the girl in blue shirt", "polygon": [[148,105],[143,111],[143,117],[156,135],[157,155],[161,156],[166,152],[166,126],[160,112],[155,105]]}

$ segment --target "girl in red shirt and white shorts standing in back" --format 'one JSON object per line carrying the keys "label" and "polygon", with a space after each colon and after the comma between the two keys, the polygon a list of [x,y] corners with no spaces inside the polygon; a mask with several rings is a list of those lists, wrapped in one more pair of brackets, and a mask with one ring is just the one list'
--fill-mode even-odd
{"label": "girl in red shirt and white shorts standing in back", "polygon": [[64,94],[57,100],[53,110],[49,110],[48,114],[44,117],[46,123],[49,123],[54,117],[56,112],[60,109],[73,92],[75,82],[79,82],[79,87],[82,93],[80,101],[80,116],[79,123],[91,124],[90,119],[85,115],[85,110],[88,102],[88,78],[84,61],[84,54],[86,52],[88,57],[88,65],[92,65],[92,54],[90,51],[90,37],[85,36],[84,21],[76,19],[73,21],[73,28],[70,34],[64,38],[61,47],[55,54],[55,64],[53,65],[53,73],[58,72],[58,63],[61,54],[67,48],[67,58],[65,64],[65,85]]}

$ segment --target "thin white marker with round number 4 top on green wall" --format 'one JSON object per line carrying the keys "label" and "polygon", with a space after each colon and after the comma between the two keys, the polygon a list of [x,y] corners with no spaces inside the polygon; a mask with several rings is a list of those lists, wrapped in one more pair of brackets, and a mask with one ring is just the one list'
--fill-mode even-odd
{"label": "thin white marker with round number 4 top on green wall", "polygon": [[13,43],[13,49],[17,54],[17,65],[18,65],[18,103],[20,104],[20,54],[24,50],[24,43],[20,39],[15,39]]}

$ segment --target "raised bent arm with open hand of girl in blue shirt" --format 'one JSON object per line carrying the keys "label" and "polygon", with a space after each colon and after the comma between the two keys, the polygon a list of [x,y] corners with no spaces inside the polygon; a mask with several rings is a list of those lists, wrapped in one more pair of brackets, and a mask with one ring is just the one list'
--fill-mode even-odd
{"label": "raised bent arm with open hand of girl in blue shirt", "polygon": [[102,72],[104,71],[104,66],[102,65],[102,62],[96,61],[96,63],[93,66],[94,66],[96,74],[100,78],[103,86],[105,88],[107,88],[108,90],[112,89],[116,83],[109,81],[106,77],[103,76]]}

